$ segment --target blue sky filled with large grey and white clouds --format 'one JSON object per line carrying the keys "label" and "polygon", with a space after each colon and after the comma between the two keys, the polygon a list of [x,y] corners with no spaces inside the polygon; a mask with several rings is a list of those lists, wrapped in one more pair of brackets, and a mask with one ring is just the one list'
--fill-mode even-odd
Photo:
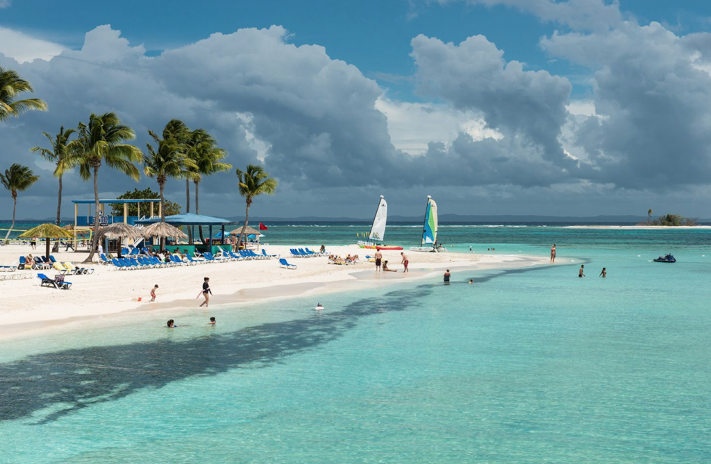
{"label": "blue sky filled with large grey and white clouds", "polygon": [[[252,217],[366,218],[380,195],[393,215],[432,195],[462,215],[711,217],[705,1],[0,0],[0,67],[49,106],[0,123],[0,171],[41,176],[18,219],[55,214],[42,132],[109,111],[144,151],[178,118],[233,166],[262,163],[279,188]],[[202,213],[243,214],[233,170],[200,192]],[[68,217],[92,184],[70,173],[63,195]]]}

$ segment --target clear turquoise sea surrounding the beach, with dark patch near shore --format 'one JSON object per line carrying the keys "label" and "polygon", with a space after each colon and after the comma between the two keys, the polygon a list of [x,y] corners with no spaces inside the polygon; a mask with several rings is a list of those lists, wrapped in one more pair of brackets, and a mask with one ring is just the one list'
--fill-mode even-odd
{"label": "clear turquoise sea surrounding the beach, with dark patch near shore", "polygon": [[[490,226],[440,239],[546,257],[556,243],[559,264],[0,342],[0,463],[710,462],[711,231]],[[274,225],[265,241],[366,229]],[[667,252],[678,263],[651,262]]]}

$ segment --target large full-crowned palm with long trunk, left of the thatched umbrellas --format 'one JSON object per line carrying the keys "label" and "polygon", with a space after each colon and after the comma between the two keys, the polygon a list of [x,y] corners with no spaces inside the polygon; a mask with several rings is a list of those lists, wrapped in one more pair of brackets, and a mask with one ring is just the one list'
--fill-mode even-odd
{"label": "large full-crowned palm with long trunk, left of the thatched umbrellas", "polygon": [[106,163],[138,181],[141,172],[135,163],[143,161],[143,153],[133,145],[125,144],[136,137],[129,126],[121,124],[115,113],[92,113],[88,124],[79,123],[79,139],[69,144],[69,166],[79,166],[79,175],[84,180],[94,179],[94,236],[92,247],[85,262],[90,262],[96,252],[99,232],[99,168]]}

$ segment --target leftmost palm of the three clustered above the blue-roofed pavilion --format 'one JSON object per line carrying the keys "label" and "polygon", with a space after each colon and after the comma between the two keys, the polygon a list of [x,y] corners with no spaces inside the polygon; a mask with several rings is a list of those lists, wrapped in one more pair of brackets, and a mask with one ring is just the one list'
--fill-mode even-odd
{"label": "leftmost palm of the three clustered above the blue-roofed pavilion", "polygon": [[[149,132],[151,136],[155,134]],[[156,138],[157,139],[157,138]],[[161,222],[166,222],[166,209],[163,207],[163,191],[169,177],[176,179],[193,176],[191,171],[197,168],[196,164],[182,153],[180,144],[173,140],[159,140],[158,149],[154,149],[151,144],[146,144],[148,156],[144,158],[143,166],[146,176],[154,177],[158,180],[161,191]]]}

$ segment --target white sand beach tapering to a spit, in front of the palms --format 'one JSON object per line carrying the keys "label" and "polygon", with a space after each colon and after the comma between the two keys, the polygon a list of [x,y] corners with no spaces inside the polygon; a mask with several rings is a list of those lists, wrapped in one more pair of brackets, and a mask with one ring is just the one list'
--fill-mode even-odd
{"label": "white sand beach tapering to a spit, in front of the palms", "polygon": [[[0,263],[14,264],[20,255],[43,253],[43,247],[31,250],[29,246],[8,245],[0,247]],[[69,290],[40,286],[38,272],[54,277],[58,271],[16,271],[31,274],[29,279],[0,281],[3,296],[0,306],[0,337],[16,335],[30,330],[48,328],[60,323],[70,323],[80,318],[111,315],[124,311],[146,309],[166,311],[176,306],[198,306],[204,277],[210,278],[213,296],[210,306],[238,301],[255,301],[260,298],[296,296],[307,291],[328,291],[337,288],[338,281],[366,281],[364,285],[387,284],[402,279],[417,279],[445,268],[509,269],[518,266],[546,264],[547,257],[528,257],[506,254],[421,253],[408,252],[409,274],[402,273],[400,251],[385,251],[383,257],[397,272],[375,273],[373,263],[365,254],[373,250],[356,245],[327,247],[329,253],[358,254],[360,264],[348,266],[328,264],[327,257],[291,258],[289,247],[271,246],[269,253],[281,254],[297,269],[279,267],[277,259],[255,261],[228,261],[196,266],[178,266],[164,269],[121,271],[114,266],[80,264],[85,253],[58,252],[59,261],[71,261],[79,266],[92,267],[94,274],[66,276],[72,282]],[[366,271],[365,273],[362,271]],[[373,274],[370,276],[369,271]],[[159,285],[156,303],[150,302],[150,291]],[[139,301],[141,298],[141,301]]]}

